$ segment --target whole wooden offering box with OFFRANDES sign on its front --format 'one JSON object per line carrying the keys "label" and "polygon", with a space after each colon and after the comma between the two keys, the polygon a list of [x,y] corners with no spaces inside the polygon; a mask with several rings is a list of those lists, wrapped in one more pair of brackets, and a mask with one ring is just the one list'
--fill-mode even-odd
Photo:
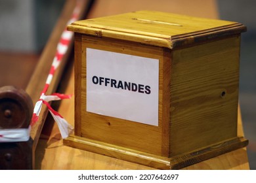
{"label": "whole wooden offering box with OFFRANDES sign on its front", "polygon": [[139,11],[81,20],[64,144],[158,169],[242,148],[236,22]]}

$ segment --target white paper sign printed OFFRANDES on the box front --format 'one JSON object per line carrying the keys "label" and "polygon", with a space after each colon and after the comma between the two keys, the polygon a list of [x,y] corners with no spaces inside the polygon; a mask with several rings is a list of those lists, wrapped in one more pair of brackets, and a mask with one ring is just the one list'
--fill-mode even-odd
{"label": "white paper sign printed OFFRANDES on the box front", "polygon": [[87,48],[87,112],[158,125],[159,60]]}

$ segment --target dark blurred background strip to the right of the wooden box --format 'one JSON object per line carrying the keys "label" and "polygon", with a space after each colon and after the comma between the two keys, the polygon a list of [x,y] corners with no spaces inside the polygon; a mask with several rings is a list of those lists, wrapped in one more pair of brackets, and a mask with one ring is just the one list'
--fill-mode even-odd
{"label": "dark blurred background strip to the right of the wooden box", "polygon": [[249,165],[256,169],[256,1],[219,0],[217,8],[219,18],[247,26],[241,40],[239,97]]}

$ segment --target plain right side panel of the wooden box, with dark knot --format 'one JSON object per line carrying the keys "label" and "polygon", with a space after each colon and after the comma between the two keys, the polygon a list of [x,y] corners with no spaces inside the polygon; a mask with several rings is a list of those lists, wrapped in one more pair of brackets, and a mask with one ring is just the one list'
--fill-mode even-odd
{"label": "plain right side panel of the wooden box, with dark knot", "polygon": [[239,53],[240,37],[173,51],[171,157],[236,137]]}

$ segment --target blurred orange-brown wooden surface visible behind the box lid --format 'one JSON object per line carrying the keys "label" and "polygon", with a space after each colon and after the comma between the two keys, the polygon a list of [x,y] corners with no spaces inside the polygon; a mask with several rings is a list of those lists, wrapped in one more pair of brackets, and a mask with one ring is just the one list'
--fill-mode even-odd
{"label": "blurred orange-brown wooden surface visible behind the box lid", "polygon": [[88,18],[110,16],[137,10],[158,10],[198,16],[202,18],[217,18],[217,2],[215,0],[97,0]]}

